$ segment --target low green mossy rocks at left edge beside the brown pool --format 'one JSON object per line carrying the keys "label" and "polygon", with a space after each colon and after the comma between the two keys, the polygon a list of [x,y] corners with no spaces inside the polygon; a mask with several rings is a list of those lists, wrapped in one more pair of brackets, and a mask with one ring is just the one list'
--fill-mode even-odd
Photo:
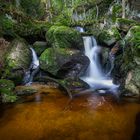
{"label": "low green mossy rocks at left edge beside the brown pool", "polygon": [[2,102],[15,102],[17,97],[13,90],[15,88],[14,83],[11,80],[0,79],[0,95]]}

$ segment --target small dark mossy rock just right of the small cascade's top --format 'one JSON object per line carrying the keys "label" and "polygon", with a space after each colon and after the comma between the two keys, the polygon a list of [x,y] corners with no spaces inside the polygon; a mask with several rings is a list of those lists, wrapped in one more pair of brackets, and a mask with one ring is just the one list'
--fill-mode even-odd
{"label": "small dark mossy rock just right of the small cascade's top", "polygon": [[41,53],[47,49],[47,42],[36,41],[33,44],[33,48],[34,48],[35,52],[37,53],[37,55],[40,56]]}

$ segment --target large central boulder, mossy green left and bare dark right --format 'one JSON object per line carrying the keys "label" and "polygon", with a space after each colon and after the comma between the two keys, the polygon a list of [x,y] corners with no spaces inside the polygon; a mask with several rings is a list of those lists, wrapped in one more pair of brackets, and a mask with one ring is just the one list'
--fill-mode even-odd
{"label": "large central boulder, mossy green left and bare dark right", "polygon": [[89,65],[89,59],[78,50],[48,48],[40,56],[40,67],[57,77],[82,75]]}

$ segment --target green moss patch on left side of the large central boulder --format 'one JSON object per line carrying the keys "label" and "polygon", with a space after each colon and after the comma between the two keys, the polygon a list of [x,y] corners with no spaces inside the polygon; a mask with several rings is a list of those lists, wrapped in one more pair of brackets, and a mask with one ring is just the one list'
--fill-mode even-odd
{"label": "green moss patch on left side of the large central boulder", "polygon": [[40,67],[56,75],[59,68],[75,53],[77,53],[77,51],[68,48],[48,48],[39,58]]}

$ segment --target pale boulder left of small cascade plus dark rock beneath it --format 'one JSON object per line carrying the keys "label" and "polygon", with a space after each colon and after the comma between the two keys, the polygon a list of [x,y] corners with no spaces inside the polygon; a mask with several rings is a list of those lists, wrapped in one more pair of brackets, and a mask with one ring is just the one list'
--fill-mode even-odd
{"label": "pale boulder left of small cascade plus dark rock beneath it", "polygon": [[7,77],[15,83],[21,83],[31,60],[32,54],[26,42],[22,39],[13,40],[6,56],[6,69],[9,71]]}

